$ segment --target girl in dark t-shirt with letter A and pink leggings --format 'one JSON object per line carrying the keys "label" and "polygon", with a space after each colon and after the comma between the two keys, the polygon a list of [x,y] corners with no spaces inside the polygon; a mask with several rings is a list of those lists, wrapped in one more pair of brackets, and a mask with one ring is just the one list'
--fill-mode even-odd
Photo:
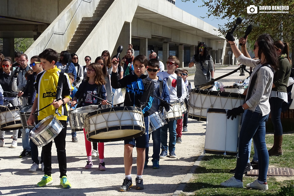
{"label": "girl in dark t-shirt with letter A and pink leggings", "polygon": [[[81,83],[78,91],[75,94],[74,101],[71,102],[72,105],[78,102],[78,99],[81,100],[81,106],[87,105],[106,105],[106,90],[104,88],[105,78],[102,72],[102,68],[98,63],[91,63],[87,69],[87,79],[85,82]],[[90,94],[88,94],[90,93]],[[97,97],[102,98],[103,100],[92,96],[95,95]],[[87,165],[85,169],[90,169],[93,166],[92,157],[91,157],[91,142],[86,139],[86,132],[84,130],[85,135],[85,145],[86,145],[86,153],[87,153]],[[104,163],[104,143],[98,144],[98,152],[99,152],[99,170],[106,170]]]}

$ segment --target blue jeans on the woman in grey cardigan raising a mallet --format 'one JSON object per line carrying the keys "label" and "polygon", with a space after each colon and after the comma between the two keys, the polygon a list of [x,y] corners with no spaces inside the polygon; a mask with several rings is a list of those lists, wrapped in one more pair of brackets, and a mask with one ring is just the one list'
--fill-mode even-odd
{"label": "blue jeans on the woman in grey cardigan raising a mallet", "polygon": [[267,120],[268,114],[262,116],[261,113],[253,112],[251,110],[246,112],[239,136],[239,156],[234,175],[237,180],[242,180],[243,178],[243,172],[249,155],[248,145],[251,138],[253,138],[259,159],[258,180],[266,182],[269,162],[268,149],[265,144],[265,122]]}

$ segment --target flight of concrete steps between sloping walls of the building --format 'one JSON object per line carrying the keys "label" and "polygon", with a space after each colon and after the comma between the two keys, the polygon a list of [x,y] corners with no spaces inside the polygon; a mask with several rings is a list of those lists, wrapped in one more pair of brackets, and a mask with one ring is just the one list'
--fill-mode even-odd
{"label": "flight of concrete steps between sloping walls of the building", "polygon": [[[92,17],[83,17],[67,47],[69,53],[76,53],[114,0],[100,0]],[[103,36],[103,35],[101,35]]]}

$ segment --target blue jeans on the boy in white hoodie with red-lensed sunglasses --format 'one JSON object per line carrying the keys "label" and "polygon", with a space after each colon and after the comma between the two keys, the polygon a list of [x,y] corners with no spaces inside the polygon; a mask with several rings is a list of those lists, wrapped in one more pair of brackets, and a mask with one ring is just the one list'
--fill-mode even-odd
{"label": "blue jeans on the boy in white hoodie with red-lensed sunglasses", "polygon": [[[167,130],[169,132],[169,143],[167,145]],[[160,130],[161,149],[169,151],[176,150],[176,120],[168,121],[166,125],[163,125]]]}

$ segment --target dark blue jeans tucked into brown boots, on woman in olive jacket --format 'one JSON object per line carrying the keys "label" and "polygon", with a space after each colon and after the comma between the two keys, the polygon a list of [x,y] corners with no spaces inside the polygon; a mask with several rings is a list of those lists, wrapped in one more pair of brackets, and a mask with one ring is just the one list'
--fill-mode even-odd
{"label": "dark blue jeans tucked into brown boots, on woman in olive jacket", "polygon": [[281,123],[281,112],[282,112],[282,103],[283,99],[278,97],[270,98],[270,115],[271,120],[274,125],[275,133],[274,135],[283,135],[283,127]]}

